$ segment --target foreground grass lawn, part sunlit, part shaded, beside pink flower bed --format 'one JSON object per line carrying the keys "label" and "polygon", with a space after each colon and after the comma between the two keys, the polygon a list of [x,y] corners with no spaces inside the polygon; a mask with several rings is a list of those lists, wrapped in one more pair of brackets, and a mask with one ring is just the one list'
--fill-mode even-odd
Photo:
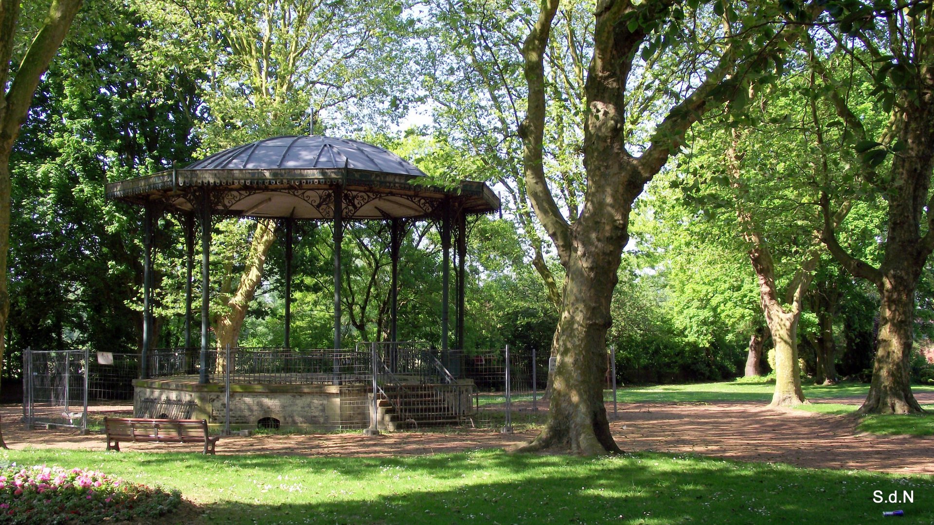
{"label": "foreground grass lawn, part sunlit, part shaded, beside pink flower bed", "polygon": [[[5,451],[181,490],[203,523],[934,522],[934,479],[655,453],[585,459],[482,450],[408,458]],[[876,504],[873,491],[913,491]]]}

